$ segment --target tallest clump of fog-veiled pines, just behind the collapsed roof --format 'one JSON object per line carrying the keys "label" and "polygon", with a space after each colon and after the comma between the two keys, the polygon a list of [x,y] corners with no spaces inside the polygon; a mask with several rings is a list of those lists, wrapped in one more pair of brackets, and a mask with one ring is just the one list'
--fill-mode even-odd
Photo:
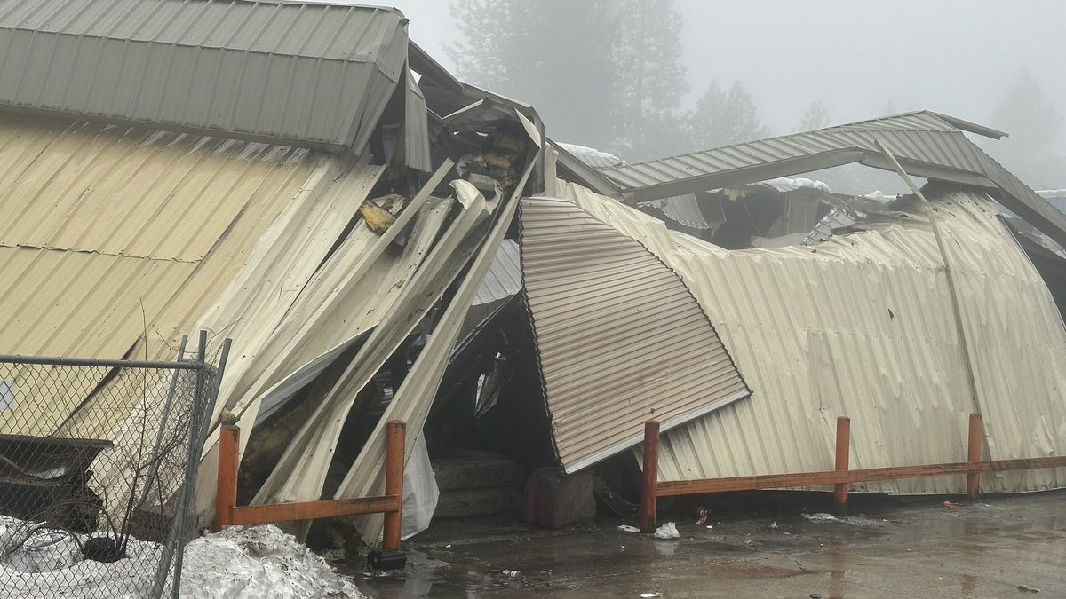
{"label": "tallest clump of fog-veiled pines, just behind the collapsed roof", "polygon": [[531,103],[548,135],[627,160],[685,149],[673,0],[453,2],[459,78]]}

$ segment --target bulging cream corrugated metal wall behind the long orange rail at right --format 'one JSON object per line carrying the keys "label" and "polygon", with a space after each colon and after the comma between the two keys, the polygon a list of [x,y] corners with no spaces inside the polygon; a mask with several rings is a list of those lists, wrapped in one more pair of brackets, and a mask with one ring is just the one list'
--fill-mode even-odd
{"label": "bulging cream corrugated metal wall behind the long orange rail at right", "polygon": [[[1066,452],[1066,329],[1054,302],[982,194],[940,197],[979,406],[936,241],[920,215],[813,247],[729,252],[610,198],[561,184],[680,273],[754,390],[663,436],[661,480],[831,470],[834,422],[852,419],[854,468],[958,462],[967,415],[991,458]],[[863,485],[960,492],[963,476]],[[1066,485],[1056,470],[985,477],[985,490]]]}

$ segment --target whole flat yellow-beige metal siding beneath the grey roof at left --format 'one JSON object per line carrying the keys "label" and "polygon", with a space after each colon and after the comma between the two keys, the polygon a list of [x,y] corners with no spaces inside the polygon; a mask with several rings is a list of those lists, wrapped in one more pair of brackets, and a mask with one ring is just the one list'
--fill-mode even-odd
{"label": "whole flat yellow-beige metal siding beneath the grey roof at left", "polygon": [[[306,149],[0,115],[0,347],[173,357],[320,162]],[[56,414],[47,421],[83,395],[44,402]]]}

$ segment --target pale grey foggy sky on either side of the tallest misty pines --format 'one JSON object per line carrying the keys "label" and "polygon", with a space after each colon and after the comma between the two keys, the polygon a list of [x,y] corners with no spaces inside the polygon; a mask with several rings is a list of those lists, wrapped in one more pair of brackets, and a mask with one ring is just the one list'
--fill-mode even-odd
{"label": "pale grey foggy sky on either side of the tallest misty pines", "polygon": [[[410,37],[445,67],[457,35],[448,2],[394,0]],[[998,102],[1028,67],[1066,116],[1063,0],[677,0],[689,101],[714,79],[740,80],[774,134],[814,100],[833,124],[930,109],[996,127]],[[550,124],[548,124],[550,127]],[[1066,127],[1059,148],[1066,152]],[[1010,131],[1007,131],[1010,132]],[[567,140],[580,143],[580,140]]]}

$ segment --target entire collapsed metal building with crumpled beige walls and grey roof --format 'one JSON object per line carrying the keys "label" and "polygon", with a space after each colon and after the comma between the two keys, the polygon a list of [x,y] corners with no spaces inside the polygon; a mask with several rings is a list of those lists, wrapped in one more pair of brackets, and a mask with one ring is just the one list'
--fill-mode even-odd
{"label": "entire collapsed metal building with crumpled beige walls and grey roof", "polygon": [[[504,313],[567,473],[639,453],[650,418],[663,481],[831,468],[837,416],[862,467],[957,458],[971,411],[994,458],[1066,451],[1066,329],[997,204],[1063,244],[1066,215],[966,136],[997,131],[916,112],[596,167],[532,107],[455,80],[393,9],[0,0],[0,350],[173,359],[191,331],[231,338],[205,516],[223,420],[246,432],[253,503],[381,493],[385,423],[416,451],[451,384],[499,363],[465,351]],[[932,212],[904,198],[805,245],[726,249],[635,207],[893,158]],[[669,210],[698,228],[700,201]],[[65,421],[29,434],[106,439],[94,410],[120,388],[19,387],[6,409]],[[478,415],[508,402],[478,389]],[[379,518],[358,527],[376,541]]]}

